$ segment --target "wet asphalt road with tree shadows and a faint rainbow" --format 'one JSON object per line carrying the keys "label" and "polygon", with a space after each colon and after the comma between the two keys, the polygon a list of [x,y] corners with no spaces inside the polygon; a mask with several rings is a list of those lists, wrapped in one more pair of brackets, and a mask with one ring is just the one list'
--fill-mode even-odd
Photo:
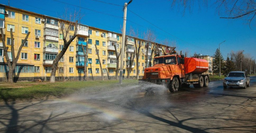
{"label": "wet asphalt road with tree shadows and a faint rainbow", "polygon": [[[154,88],[153,92],[146,91]],[[170,93],[141,84],[67,98],[0,105],[0,132],[256,132],[256,77],[247,89],[205,88]]]}

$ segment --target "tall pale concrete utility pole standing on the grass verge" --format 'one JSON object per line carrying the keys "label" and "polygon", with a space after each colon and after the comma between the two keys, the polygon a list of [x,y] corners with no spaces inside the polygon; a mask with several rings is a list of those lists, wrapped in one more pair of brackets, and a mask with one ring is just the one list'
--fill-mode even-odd
{"label": "tall pale concrete utility pole standing on the grass verge", "polygon": [[[128,2],[130,4],[132,0]],[[119,84],[123,84],[123,68],[124,68],[124,53],[125,53],[125,28],[126,28],[126,12],[127,12],[127,3],[124,5],[124,22],[123,22],[123,35],[122,35],[122,49],[121,49],[121,62],[120,62],[120,72],[119,72]]]}

